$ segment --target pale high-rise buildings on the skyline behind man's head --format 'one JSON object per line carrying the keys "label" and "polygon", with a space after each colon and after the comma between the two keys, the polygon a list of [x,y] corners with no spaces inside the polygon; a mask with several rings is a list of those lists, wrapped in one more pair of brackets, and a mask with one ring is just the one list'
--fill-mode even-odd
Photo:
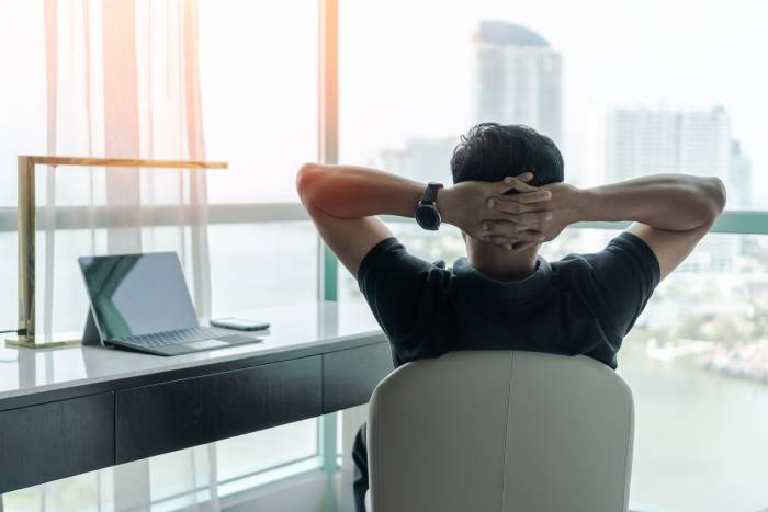
{"label": "pale high-rise buildings on the skyline behind man's head", "polygon": [[[566,181],[591,185],[664,172],[712,175],[726,184],[732,209],[752,207],[757,195],[752,160],[733,133],[724,106],[598,109],[597,123],[586,124],[586,136],[579,141],[583,167],[572,173],[574,166],[560,132],[563,54],[537,31],[499,20],[481,20],[472,42],[476,49],[474,121],[526,124],[550,136],[566,156]],[[552,104],[542,103],[544,98]],[[447,180],[459,137],[408,137],[398,148],[381,150],[370,163],[422,181]],[[598,155],[592,166],[584,158],[589,153]]]}

